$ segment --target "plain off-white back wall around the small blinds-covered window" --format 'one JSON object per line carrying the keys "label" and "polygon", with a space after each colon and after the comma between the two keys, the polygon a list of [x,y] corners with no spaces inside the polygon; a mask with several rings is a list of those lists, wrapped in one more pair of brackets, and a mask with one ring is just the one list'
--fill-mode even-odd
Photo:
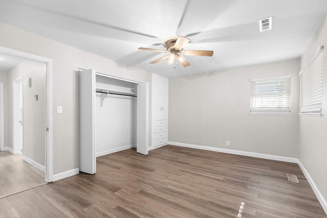
{"label": "plain off-white back wall around the small blinds-covered window", "polygon": [[[297,157],[299,66],[295,59],[171,78],[169,141]],[[249,115],[250,79],[281,75],[291,75],[293,115]]]}

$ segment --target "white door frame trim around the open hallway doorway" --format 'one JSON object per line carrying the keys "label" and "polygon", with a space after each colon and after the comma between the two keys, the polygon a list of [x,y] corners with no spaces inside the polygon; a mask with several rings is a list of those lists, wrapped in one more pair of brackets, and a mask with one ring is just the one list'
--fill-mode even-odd
{"label": "white door frame trim around the open hallway doorway", "polygon": [[[45,64],[45,182],[53,182],[53,61],[50,58],[8,49],[3,46],[0,46],[0,54]],[[0,127],[2,126],[1,124]],[[0,133],[2,131],[0,130]]]}

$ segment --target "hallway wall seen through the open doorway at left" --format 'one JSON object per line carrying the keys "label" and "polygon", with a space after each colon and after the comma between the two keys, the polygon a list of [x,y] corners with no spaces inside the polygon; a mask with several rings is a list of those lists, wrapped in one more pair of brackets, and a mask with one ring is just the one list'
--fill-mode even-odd
{"label": "hallway wall seen through the open doorway at left", "polygon": [[[23,61],[8,71],[8,146],[13,149],[13,80],[23,81],[24,156],[45,164],[45,64]],[[29,78],[32,87],[29,87]],[[38,94],[38,100],[34,100]]]}

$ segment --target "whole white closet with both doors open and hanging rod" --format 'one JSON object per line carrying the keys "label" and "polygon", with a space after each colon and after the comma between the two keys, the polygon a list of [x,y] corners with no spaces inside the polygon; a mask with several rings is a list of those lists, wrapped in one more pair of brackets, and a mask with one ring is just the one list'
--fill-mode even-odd
{"label": "whole white closet with both doors open and hanging rod", "polygon": [[96,173],[96,157],[136,147],[148,154],[148,83],[79,71],[79,169]]}

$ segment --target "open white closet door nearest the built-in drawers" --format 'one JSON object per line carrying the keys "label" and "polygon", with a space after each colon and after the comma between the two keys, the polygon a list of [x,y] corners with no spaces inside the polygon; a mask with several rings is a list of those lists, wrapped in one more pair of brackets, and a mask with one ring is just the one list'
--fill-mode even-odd
{"label": "open white closet door nearest the built-in drawers", "polygon": [[149,83],[137,85],[136,152],[148,155]]}

